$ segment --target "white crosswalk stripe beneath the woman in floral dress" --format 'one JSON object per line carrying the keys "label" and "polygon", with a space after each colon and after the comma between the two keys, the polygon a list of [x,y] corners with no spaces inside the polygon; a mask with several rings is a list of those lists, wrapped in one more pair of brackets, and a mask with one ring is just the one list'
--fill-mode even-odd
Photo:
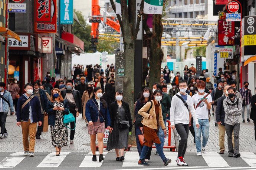
{"label": "white crosswalk stripe beneath the woman in floral dress", "polygon": [[37,165],[39,167],[59,167],[62,161],[70,152],[61,152],[60,156],[56,156],[56,152],[48,154],[43,161]]}

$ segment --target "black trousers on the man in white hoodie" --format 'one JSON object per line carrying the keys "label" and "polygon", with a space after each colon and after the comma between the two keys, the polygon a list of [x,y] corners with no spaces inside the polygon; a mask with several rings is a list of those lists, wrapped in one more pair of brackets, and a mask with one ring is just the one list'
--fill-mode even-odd
{"label": "black trousers on the man in white hoodie", "polygon": [[188,132],[189,132],[189,124],[184,125],[182,123],[178,123],[175,125],[175,128],[180,135],[180,144],[178,148],[178,157],[184,157],[187,150],[187,141],[188,141]]}

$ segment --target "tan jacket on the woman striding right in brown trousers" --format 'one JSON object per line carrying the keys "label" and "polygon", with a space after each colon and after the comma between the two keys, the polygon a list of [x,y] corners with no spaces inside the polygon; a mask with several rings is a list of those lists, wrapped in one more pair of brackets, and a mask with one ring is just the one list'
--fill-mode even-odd
{"label": "tan jacket on the woman striding right in brown trousers", "polygon": [[[151,102],[147,102],[140,110],[139,114],[143,116],[144,118],[142,119],[141,123],[144,126],[147,126],[151,129],[158,129],[157,128],[157,119],[156,119],[156,114],[155,114],[155,104],[154,101],[152,100],[152,108],[150,109]],[[149,114],[147,111],[150,109]],[[153,119],[149,119],[150,115],[153,117]],[[161,105],[159,107],[159,125],[161,126],[162,129],[165,129],[164,125],[164,120],[163,120],[163,115],[162,115],[162,108]]]}

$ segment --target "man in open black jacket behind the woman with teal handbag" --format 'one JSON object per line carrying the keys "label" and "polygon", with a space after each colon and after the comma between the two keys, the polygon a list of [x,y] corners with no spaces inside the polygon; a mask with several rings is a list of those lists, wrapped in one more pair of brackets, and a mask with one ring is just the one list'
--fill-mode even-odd
{"label": "man in open black jacket behind the woman with teal handbag", "polygon": [[[68,106],[70,112],[74,115],[75,119],[79,116],[79,113],[82,114],[82,101],[79,91],[73,89],[73,81],[66,81],[66,89],[61,91],[63,99],[68,99]],[[75,128],[75,122],[70,123],[70,128]],[[70,142],[69,144],[74,144],[75,130],[70,130]]]}

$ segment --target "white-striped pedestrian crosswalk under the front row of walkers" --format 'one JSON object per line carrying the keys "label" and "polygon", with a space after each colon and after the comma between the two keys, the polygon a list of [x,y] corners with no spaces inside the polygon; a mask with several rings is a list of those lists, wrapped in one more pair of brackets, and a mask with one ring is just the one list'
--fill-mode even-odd
{"label": "white-striped pedestrian crosswalk under the front row of walkers", "polygon": [[[17,169],[23,163],[30,162],[31,160],[36,160],[35,167],[32,168],[56,168],[63,167],[67,165],[67,162],[74,162],[74,155],[76,155],[79,161],[75,166],[78,167],[104,167],[109,164],[113,165],[115,163],[119,168],[123,167],[134,167],[135,169],[143,168],[143,166],[138,165],[139,154],[138,152],[126,152],[124,162],[115,161],[115,153],[104,152],[104,160],[102,162],[92,162],[92,153],[71,153],[71,152],[61,152],[60,156],[55,156],[55,152],[52,153],[36,153],[36,157],[23,156],[22,152],[16,152],[12,154],[0,153],[0,169]],[[3,156],[4,155],[4,156]],[[96,153],[97,159],[99,152]],[[175,159],[177,158],[177,152],[165,152],[165,156],[172,160],[168,167],[177,167]],[[227,169],[234,167],[237,162],[243,163],[242,166],[248,167],[249,169],[256,167],[256,154],[255,153],[241,153],[241,158],[230,158],[227,155],[220,155],[219,153],[209,152],[203,154],[203,157],[196,156],[196,153],[186,154],[186,162],[192,165],[191,167],[197,167],[200,165],[203,167],[226,167]],[[163,166],[160,157],[151,155],[150,163],[156,164],[155,166]],[[69,163],[68,163],[69,164]],[[33,165],[34,166],[34,165]],[[256,169],[256,168],[255,168]]]}

